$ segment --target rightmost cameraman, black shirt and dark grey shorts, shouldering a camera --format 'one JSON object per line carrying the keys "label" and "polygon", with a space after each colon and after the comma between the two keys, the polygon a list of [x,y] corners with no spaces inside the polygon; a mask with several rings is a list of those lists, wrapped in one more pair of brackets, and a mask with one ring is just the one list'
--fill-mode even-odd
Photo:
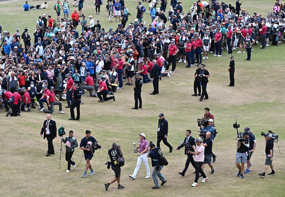
{"label": "rightmost cameraman, black shirt and dark grey shorts, shouldering a camera", "polygon": [[268,169],[268,165],[270,165],[271,168],[271,173],[269,173],[268,175],[275,175],[274,169],[273,169],[273,139],[272,139],[272,134],[271,133],[267,133],[264,135],[265,137],[265,155],[266,155],[266,159],[265,159],[265,167],[264,167],[264,171],[261,174],[258,174],[259,176],[261,176],[262,178],[265,178],[265,173]]}

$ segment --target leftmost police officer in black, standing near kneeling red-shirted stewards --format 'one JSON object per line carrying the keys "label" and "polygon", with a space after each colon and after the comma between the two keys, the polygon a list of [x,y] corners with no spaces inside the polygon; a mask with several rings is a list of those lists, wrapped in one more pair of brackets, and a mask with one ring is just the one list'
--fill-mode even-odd
{"label": "leftmost police officer in black, standing near kneeling red-shirted stewards", "polygon": [[[80,88],[78,86],[78,84],[75,84],[75,90],[73,91],[73,94],[72,94],[72,98],[73,98],[73,101],[70,105],[70,116],[71,118],[69,118],[69,120],[78,120],[79,121],[79,118],[80,118],[80,102],[81,102],[81,95],[82,95],[82,88]],[[76,110],[77,110],[77,116],[75,118],[75,115],[74,115],[74,108],[76,107]]]}

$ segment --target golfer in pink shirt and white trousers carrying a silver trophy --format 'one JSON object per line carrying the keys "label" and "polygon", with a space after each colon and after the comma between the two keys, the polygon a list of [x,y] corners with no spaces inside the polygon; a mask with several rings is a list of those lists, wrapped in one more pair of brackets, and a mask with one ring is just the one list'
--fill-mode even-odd
{"label": "golfer in pink shirt and white trousers carrying a silver trophy", "polygon": [[134,169],[134,173],[132,175],[129,175],[129,177],[131,177],[132,179],[136,179],[136,175],[137,175],[137,172],[139,171],[140,164],[143,161],[143,163],[145,164],[146,172],[147,172],[147,176],[145,177],[145,179],[148,179],[151,177],[151,174],[149,172],[148,157],[147,157],[148,141],[145,139],[144,133],[139,134],[139,136],[140,136],[139,146],[136,146],[135,140],[132,140],[133,146],[134,146],[134,153],[138,152],[137,150],[138,148],[140,150],[139,150],[139,154],[137,154],[137,166]]}

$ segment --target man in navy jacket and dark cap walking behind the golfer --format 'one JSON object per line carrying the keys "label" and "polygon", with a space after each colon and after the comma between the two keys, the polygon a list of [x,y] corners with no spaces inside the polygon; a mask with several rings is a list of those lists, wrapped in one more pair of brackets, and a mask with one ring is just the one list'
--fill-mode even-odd
{"label": "man in navy jacket and dark cap walking behind the golfer", "polygon": [[164,114],[159,114],[158,120],[158,129],[157,129],[157,143],[156,146],[160,147],[160,142],[162,142],[168,146],[169,152],[172,152],[173,147],[167,142],[167,134],[168,134],[168,122],[164,118]]}

